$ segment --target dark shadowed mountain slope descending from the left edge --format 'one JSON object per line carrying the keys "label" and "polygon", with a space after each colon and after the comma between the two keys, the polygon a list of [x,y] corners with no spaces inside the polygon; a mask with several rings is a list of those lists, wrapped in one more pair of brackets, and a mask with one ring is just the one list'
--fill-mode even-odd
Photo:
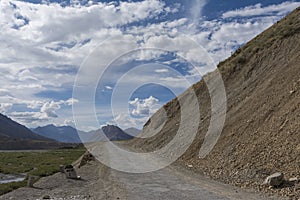
{"label": "dark shadowed mountain slope descending from the left edge", "polygon": [[63,147],[65,144],[33,133],[25,126],[0,114],[0,149],[52,149]]}

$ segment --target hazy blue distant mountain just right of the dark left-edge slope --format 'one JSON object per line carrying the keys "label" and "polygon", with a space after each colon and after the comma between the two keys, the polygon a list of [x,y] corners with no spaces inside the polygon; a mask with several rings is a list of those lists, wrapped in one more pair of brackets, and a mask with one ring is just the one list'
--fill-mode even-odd
{"label": "hazy blue distant mountain just right of the dark left-edge slope", "polygon": [[71,126],[55,126],[49,124],[43,127],[39,126],[32,130],[41,136],[52,138],[59,142],[81,143],[77,130]]}

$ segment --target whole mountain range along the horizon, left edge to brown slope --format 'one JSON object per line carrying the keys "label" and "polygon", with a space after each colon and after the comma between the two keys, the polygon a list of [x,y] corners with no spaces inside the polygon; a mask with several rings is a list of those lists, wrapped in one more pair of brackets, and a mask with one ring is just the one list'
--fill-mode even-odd
{"label": "whole mountain range along the horizon, left edge to brown slope", "polygon": [[79,144],[82,141],[128,140],[139,132],[135,128],[126,129],[125,132],[114,125],[89,132],[76,130],[71,126],[53,124],[30,130],[0,114],[0,150],[48,149]]}

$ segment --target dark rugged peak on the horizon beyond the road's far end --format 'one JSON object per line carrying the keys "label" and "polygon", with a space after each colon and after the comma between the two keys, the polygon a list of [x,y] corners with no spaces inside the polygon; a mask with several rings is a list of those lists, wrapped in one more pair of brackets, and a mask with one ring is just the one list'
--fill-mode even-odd
{"label": "dark rugged peak on the horizon beyond the road's far end", "polygon": [[114,126],[114,125],[104,126],[101,128],[101,130],[106,135],[106,137],[111,141],[130,140],[130,139],[134,138],[133,136],[128,135],[121,128]]}

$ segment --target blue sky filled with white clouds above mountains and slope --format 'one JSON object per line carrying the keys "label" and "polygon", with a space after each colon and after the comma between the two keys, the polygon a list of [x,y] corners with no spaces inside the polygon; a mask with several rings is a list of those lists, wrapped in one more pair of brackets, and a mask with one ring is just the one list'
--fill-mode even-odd
{"label": "blue sky filled with white clouds above mountains and slope", "polygon": [[74,115],[81,130],[141,128],[298,6],[283,0],[0,0],[0,113],[30,128],[74,126]]}

